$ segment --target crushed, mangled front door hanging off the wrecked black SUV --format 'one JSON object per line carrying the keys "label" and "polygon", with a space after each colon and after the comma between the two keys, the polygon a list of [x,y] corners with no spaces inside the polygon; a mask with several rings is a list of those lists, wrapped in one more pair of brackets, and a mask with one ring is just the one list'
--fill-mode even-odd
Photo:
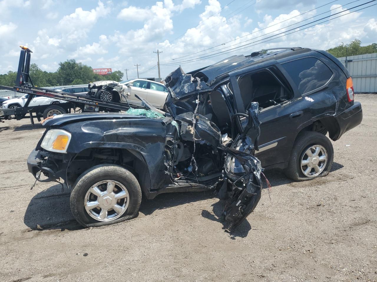
{"label": "crushed, mangled front door hanging off the wrecked black SUV", "polygon": [[[225,172],[228,181],[219,190],[219,198],[227,199],[222,218],[225,230],[232,231],[254,211],[262,193],[261,161],[253,156],[258,149],[259,125],[258,103],[251,103],[248,123],[231,147],[221,145],[225,156]],[[225,194],[225,189],[226,193]]]}

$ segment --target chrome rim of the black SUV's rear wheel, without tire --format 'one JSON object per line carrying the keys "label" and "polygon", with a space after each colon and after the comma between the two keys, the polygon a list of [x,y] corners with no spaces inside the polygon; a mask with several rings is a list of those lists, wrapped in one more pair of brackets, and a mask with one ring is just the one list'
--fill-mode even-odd
{"label": "chrome rim of the black SUV's rear wheel, without tire", "polygon": [[327,152],[321,145],[309,147],[301,158],[301,171],[307,177],[322,173],[327,164]]}

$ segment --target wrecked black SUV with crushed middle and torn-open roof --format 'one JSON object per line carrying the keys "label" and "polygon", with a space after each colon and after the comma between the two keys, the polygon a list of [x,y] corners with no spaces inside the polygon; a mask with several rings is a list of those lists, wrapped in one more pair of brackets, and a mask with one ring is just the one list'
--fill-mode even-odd
{"label": "wrecked black SUV with crushed middle and torn-open roof", "polygon": [[233,56],[187,74],[178,68],[164,82],[169,113],[139,97],[150,111],[44,121],[29,171],[72,185],[83,226],[137,216],[142,195],[215,189],[233,230],[259,202],[262,164],[295,180],[324,176],[333,162],[325,133],[337,140],[362,120],[348,71],[320,50]]}

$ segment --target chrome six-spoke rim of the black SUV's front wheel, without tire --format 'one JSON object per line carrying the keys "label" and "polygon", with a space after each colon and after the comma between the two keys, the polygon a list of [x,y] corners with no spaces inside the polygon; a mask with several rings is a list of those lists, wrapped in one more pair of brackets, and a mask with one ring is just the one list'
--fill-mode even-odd
{"label": "chrome six-spoke rim of the black SUV's front wheel, without tire", "polygon": [[98,221],[112,221],[120,218],[127,210],[129,194],[121,183],[104,180],[90,187],[84,204],[90,217]]}

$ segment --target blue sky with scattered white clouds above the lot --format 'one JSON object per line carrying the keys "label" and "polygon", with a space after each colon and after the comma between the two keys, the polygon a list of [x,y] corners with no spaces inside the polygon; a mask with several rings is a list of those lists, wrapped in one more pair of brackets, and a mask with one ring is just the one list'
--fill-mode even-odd
{"label": "blue sky with scattered white clouds above the lot", "polygon": [[[377,1],[346,9],[369,1],[0,0],[0,73],[16,70],[18,45],[33,50],[42,70],[73,58],[93,68],[127,68],[129,78],[135,64],[141,77],[158,76],[157,49],[165,77],[178,65],[190,71],[276,46],[328,49],[354,38],[365,45],[377,41],[377,5],[352,11]],[[342,17],[321,23],[330,15]]]}

